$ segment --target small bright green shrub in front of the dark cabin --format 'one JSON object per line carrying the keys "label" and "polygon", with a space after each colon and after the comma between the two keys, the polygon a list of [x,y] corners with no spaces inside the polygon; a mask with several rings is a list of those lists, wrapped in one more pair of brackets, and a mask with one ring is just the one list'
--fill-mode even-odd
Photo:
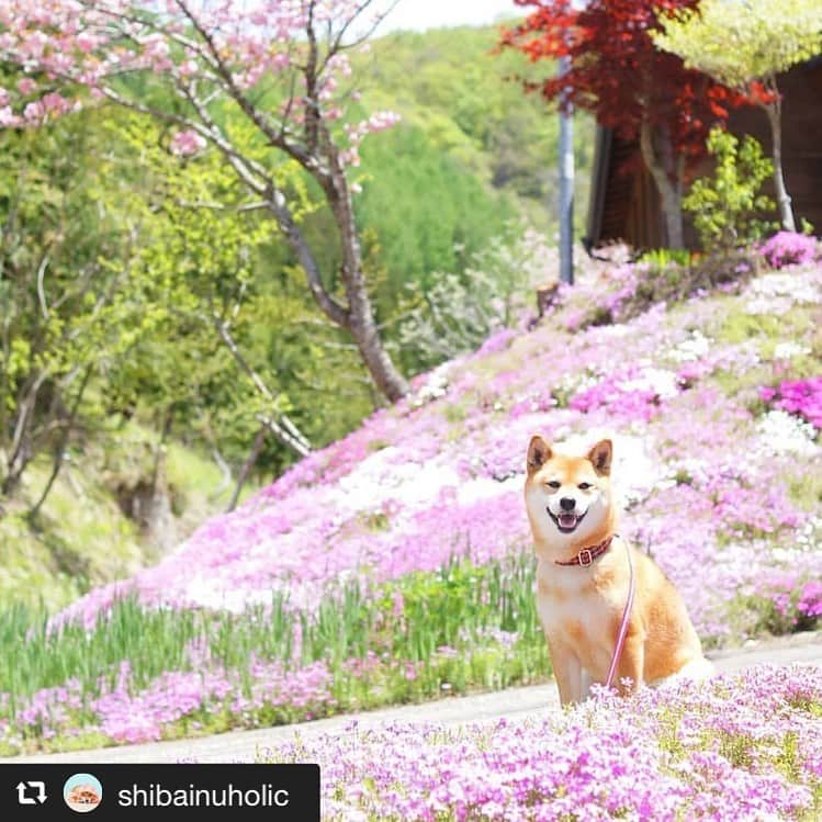
{"label": "small bright green shrub in front of the dark cabin", "polygon": [[774,173],[773,162],[750,135],[740,146],[736,137],[721,128],[711,131],[708,151],[716,162],[713,174],[696,180],[683,200],[683,207],[694,215],[702,247],[728,251],[762,238],[772,225],[761,216],[775,204],[758,192]]}

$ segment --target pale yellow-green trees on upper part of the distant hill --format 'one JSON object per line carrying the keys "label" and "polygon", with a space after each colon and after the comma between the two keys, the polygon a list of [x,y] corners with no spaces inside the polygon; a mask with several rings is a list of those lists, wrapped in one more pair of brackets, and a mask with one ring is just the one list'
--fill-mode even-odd
{"label": "pale yellow-green trees on upper part of the distant hill", "polygon": [[[541,82],[545,65],[530,65],[513,49],[498,52],[498,42],[496,26],[401,32],[375,41],[371,54],[356,58],[354,70],[363,80],[369,109],[398,112],[404,123],[423,132],[430,150],[507,194],[529,224],[551,233],[559,223],[559,119],[538,93],[523,94],[521,86],[522,79]],[[371,78],[370,85],[365,78]],[[386,138],[369,137],[363,156]],[[587,200],[593,149],[594,121],[578,112],[577,203]],[[432,214],[438,193],[425,201]],[[585,230],[584,219],[583,209],[577,209],[577,234]],[[384,236],[381,239],[390,245]],[[452,270],[441,260],[431,269]]]}

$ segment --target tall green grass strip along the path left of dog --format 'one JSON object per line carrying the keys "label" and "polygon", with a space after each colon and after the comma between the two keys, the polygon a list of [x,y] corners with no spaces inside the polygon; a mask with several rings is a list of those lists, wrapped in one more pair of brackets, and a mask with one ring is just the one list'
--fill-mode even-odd
{"label": "tall green grass strip along the path left of dog", "polygon": [[[0,718],[13,720],[37,690],[75,678],[83,707],[71,720],[91,727],[95,718],[88,706],[114,685],[121,662],[131,663],[130,688],[138,691],[166,672],[200,666],[192,646],[207,650],[215,669],[227,672],[246,695],[254,685],[255,661],[280,661],[286,669],[325,662],[334,701],[309,706],[314,717],[540,682],[551,668],[536,613],[533,574],[530,555],[484,566],[454,561],[371,592],[352,581],[329,590],[312,616],[292,609],[284,596],[243,615],[147,610],[123,599],[90,630],[66,624],[49,631],[44,610],[7,608],[0,612],[0,658],[15,664],[0,667],[0,694],[9,695],[5,706],[0,702]],[[296,632],[302,635],[299,646]],[[290,722],[305,719],[306,710],[267,703],[237,716],[212,705],[167,725],[164,733]],[[87,737],[45,741],[35,728],[20,744],[24,750],[63,750],[78,744],[77,739]]]}

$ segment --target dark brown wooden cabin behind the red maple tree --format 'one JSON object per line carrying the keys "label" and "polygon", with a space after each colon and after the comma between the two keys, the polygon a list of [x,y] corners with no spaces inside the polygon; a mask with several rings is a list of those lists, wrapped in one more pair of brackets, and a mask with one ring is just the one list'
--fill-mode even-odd
{"label": "dark brown wooden cabin behind the red maple tree", "polygon": [[[792,68],[778,82],[784,97],[782,167],[793,214],[797,223],[804,217],[822,233],[822,57]],[[751,134],[770,155],[770,128],[762,109],[733,111],[729,131],[737,137]],[[639,154],[639,139],[620,139],[610,130],[597,128],[586,238],[592,246],[616,240],[638,249],[666,245],[660,195]],[[705,170],[692,172],[699,177],[709,170],[706,160]],[[765,191],[773,196],[773,183],[766,183]],[[687,213],[685,244],[698,246]]]}

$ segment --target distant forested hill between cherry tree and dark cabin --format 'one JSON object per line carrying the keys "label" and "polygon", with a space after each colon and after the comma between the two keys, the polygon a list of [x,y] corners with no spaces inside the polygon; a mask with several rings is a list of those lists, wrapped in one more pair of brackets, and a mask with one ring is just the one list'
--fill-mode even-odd
{"label": "distant forested hill between cherry tree and dark cabin", "polygon": [[[464,272],[489,240],[510,240],[522,223],[553,241],[559,121],[520,81],[553,69],[499,52],[499,32],[401,32],[357,56],[364,110],[402,116],[363,144],[358,202],[367,235],[380,243],[392,303],[408,281]],[[594,144],[589,117],[576,120],[581,234]]]}

